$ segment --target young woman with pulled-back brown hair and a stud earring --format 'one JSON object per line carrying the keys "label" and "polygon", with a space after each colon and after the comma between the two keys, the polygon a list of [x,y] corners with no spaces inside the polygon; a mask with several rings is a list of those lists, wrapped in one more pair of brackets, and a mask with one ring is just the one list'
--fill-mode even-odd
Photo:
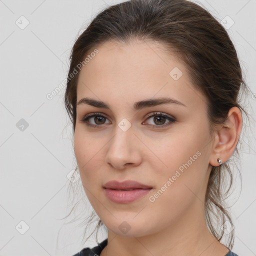
{"label": "young woman with pulled-back brown hair and a stud earring", "polygon": [[108,236],[75,256],[237,256],[221,185],[244,89],[227,32],[199,5],[131,0],[99,13],[73,45],[65,106]]}

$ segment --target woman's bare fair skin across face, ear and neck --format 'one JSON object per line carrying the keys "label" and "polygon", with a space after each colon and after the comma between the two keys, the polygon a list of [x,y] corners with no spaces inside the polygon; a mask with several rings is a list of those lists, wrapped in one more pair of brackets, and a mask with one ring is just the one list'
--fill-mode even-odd
{"label": "woman's bare fair skin across face, ear and neck", "polygon": [[[108,228],[108,244],[100,255],[224,256],[228,248],[209,233],[203,202],[210,164],[219,165],[218,157],[226,161],[236,146],[242,124],[239,109],[231,108],[226,123],[217,125],[211,134],[206,97],[195,89],[185,66],[167,54],[163,45],[107,41],[97,49],[79,73],[77,102],[90,97],[109,104],[111,110],[77,105],[74,151],[84,191]],[[169,75],[174,67],[182,71],[177,80]],[[135,101],[166,96],[185,106],[167,103],[132,109]],[[97,127],[81,121],[93,112],[106,117],[88,120]],[[157,122],[154,116],[147,117],[152,112],[162,112],[175,121],[163,118]],[[123,118],[131,124],[126,131],[118,126]],[[196,152],[200,155],[194,159]],[[192,163],[150,201],[149,196],[190,157]],[[110,201],[103,184],[126,179],[153,189],[130,203]],[[126,233],[118,228],[123,221],[130,226]]]}

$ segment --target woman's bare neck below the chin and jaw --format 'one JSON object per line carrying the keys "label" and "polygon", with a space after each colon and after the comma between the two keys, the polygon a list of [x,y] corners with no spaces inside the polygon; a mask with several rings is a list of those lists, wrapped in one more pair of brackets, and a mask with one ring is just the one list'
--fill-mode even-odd
{"label": "woman's bare neck below the chin and jaw", "polygon": [[197,199],[178,221],[170,220],[169,226],[146,236],[119,236],[108,230],[100,256],[224,256],[229,249],[210,234],[203,206]]}

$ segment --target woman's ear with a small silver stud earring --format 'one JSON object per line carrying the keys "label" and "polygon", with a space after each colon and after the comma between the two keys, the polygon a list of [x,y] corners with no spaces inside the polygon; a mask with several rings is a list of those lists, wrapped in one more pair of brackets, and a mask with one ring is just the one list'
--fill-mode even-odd
{"label": "woman's ear with a small silver stud earring", "polygon": [[[231,107],[224,123],[218,124],[212,144],[209,164],[218,166],[232,155],[242,128],[242,115],[238,107]],[[218,163],[217,158],[221,159]]]}

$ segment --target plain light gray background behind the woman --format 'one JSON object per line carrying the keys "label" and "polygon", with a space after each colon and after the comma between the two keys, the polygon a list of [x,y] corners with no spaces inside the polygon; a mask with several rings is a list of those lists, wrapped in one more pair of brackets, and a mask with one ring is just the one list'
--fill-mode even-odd
{"label": "plain light gray background behind the woman", "polygon": [[[75,166],[71,126],[66,126],[64,89],[51,100],[46,94],[66,78],[70,49],[82,26],[99,10],[117,2],[121,1],[0,0],[2,256],[72,255],[96,244],[95,237],[82,244],[83,228],[75,223],[63,225],[60,219],[71,207],[67,205],[70,181],[66,177]],[[255,110],[256,0],[198,2],[218,20],[228,15],[234,21],[227,30],[251,89],[248,103]],[[22,15],[29,22],[23,29],[15,23],[25,24]],[[248,110],[255,117],[255,111]],[[28,123],[23,131],[16,126],[21,118]],[[255,129],[254,123],[251,129]],[[236,234],[233,251],[251,256],[256,255],[255,136],[248,131],[243,144],[242,191],[231,207]],[[232,202],[239,193],[236,182]],[[83,215],[87,212],[89,207],[82,209]],[[25,224],[20,221],[29,226],[24,234],[20,231],[25,231]],[[99,241],[105,237],[103,232]]]}

